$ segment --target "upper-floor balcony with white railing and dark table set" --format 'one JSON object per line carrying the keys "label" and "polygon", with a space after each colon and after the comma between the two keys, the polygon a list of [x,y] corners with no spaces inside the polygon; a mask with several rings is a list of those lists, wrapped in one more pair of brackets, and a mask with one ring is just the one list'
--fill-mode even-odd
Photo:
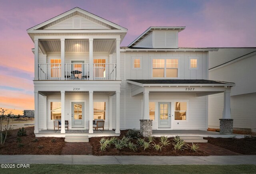
{"label": "upper-floor balcony with white railing and dark table set", "polygon": [[[65,80],[116,80],[116,63],[94,63],[90,72],[88,63],[65,63]],[[39,80],[61,80],[60,63],[39,63]]]}

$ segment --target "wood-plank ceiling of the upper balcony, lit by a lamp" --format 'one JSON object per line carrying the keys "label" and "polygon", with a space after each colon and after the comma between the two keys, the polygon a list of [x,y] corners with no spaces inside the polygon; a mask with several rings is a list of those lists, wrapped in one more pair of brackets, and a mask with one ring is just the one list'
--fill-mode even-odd
{"label": "wood-plank ceiling of the upper balcony, lit by a lamp", "polygon": [[[44,52],[60,52],[60,40],[40,40],[40,48]],[[114,40],[94,40],[94,52],[112,53],[115,48]],[[88,40],[65,40],[65,52],[89,52]]]}

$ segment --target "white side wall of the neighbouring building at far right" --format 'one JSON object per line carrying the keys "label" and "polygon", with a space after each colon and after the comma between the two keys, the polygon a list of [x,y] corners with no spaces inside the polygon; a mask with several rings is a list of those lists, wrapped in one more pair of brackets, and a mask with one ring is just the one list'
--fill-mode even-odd
{"label": "white side wall of the neighbouring building at far right", "polygon": [[[254,48],[219,49],[209,53],[209,67],[221,65],[242,55],[256,51]],[[222,59],[223,58],[223,59]],[[256,53],[241,57],[217,68],[209,70],[210,80],[234,82],[231,88],[231,118],[234,128],[249,128],[256,131]],[[223,94],[209,96],[209,127],[219,127],[222,118]]]}

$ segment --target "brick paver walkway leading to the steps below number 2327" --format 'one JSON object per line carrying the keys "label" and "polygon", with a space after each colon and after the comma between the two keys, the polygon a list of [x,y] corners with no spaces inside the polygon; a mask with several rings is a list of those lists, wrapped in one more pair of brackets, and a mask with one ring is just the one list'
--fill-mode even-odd
{"label": "brick paver walkway leading to the steps below number 2327", "polygon": [[242,155],[240,153],[236,153],[236,152],[232,152],[228,149],[224,149],[222,147],[218,147],[216,145],[212,145],[210,143],[200,143],[199,144],[199,149],[201,151],[204,151],[210,155],[222,155],[222,156],[226,156],[226,155]]}

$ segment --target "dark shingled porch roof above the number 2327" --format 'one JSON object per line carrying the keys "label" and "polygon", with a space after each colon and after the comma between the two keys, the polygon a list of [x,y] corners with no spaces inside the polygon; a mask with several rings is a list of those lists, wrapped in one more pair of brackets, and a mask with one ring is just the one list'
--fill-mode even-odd
{"label": "dark shingled porch roof above the number 2327", "polygon": [[[159,79],[159,80],[129,80],[140,84],[218,84],[218,86],[234,86],[231,82],[221,82],[215,80],[204,80],[204,79]],[[147,86],[147,85],[146,85]]]}

